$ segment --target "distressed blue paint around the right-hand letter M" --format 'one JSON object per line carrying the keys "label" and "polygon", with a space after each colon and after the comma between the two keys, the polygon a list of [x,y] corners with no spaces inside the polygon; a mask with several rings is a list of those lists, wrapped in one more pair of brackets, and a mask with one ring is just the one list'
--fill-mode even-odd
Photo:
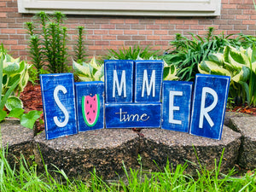
{"label": "distressed blue paint around the right-hand letter M", "polygon": [[[135,102],[160,102],[163,68],[163,61],[135,61]],[[151,79],[153,80],[153,71],[155,73],[155,86],[152,84],[151,89],[148,89],[147,92],[147,85],[149,87]],[[147,74],[145,75],[148,78],[147,83],[145,79],[143,80],[144,73]],[[153,91],[155,92],[155,96],[153,95]]]}

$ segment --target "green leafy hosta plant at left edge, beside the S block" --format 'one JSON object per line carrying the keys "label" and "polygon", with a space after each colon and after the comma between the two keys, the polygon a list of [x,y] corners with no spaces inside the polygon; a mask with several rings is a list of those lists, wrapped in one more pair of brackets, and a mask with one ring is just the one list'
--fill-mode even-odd
{"label": "green leafy hosta plant at left edge, beside the S block", "polygon": [[[18,118],[21,125],[32,129],[42,112],[24,113],[19,97],[11,96],[15,91],[20,93],[24,90],[28,80],[28,68],[24,61],[13,59],[5,51],[0,52],[0,122],[6,117]],[[3,110],[4,106],[9,110],[9,114]]]}

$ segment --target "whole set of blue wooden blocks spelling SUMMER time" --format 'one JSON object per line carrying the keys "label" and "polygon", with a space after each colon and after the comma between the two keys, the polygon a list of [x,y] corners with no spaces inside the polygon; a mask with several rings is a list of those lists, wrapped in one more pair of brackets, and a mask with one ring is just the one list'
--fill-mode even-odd
{"label": "whole set of blue wooden blocks spelling SUMMER time", "polygon": [[[40,75],[46,139],[102,128],[161,128],[221,139],[230,77],[163,81],[163,61],[104,61],[104,81]],[[193,96],[192,96],[193,95]]]}

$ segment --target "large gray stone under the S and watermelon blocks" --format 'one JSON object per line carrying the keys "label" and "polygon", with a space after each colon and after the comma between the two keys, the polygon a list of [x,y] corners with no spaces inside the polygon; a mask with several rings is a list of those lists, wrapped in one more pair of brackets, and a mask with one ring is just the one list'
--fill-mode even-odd
{"label": "large gray stone under the S and watermelon blocks", "polygon": [[42,167],[40,151],[49,169],[55,169],[53,164],[68,176],[85,179],[96,168],[97,175],[113,178],[116,172],[123,173],[123,161],[127,167],[137,166],[138,137],[130,129],[86,131],[53,140],[46,140],[43,132],[35,137],[35,143],[38,165]]}

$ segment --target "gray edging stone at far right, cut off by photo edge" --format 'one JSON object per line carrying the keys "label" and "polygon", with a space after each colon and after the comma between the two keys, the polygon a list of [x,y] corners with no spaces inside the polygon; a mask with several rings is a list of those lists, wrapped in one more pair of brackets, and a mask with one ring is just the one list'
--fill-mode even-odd
{"label": "gray edging stone at far right, cut off by photo edge", "polygon": [[231,122],[242,136],[239,165],[248,169],[256,168],[256,117],[236,117]]}

